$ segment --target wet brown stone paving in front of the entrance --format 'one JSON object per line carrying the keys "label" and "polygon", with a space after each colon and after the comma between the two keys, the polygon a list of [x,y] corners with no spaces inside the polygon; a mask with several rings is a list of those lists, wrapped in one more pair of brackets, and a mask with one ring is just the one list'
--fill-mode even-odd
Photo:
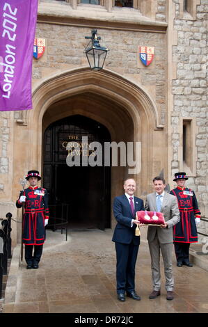
{"label": "wet brown stone paving in front of the entrance", "polygon": [[161,260],[161,296],[152,292],[150,254],[143,236],[136,265],[136,291],[141,301],[117,300],[115,248],[112,230],[74,230],[65,235],[47,230],[40,268],[19,266],[19,247],[13,251],[3,313],[198,313],[208,312],[207,271],[178,268],[173,253],[175,299],[166,300]]}

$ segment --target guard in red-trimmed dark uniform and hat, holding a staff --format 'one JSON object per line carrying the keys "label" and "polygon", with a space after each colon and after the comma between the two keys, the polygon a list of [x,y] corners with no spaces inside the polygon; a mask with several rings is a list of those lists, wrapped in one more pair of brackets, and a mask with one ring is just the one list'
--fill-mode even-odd
{"label": "guard in red-trimmed dark uniform and hat, holding a staff", "polygon": [[24,203],[22,241],[25,244],[26,268],[38,269],[45,242],[45,226],[49,220],[48,193],[38,187],[41,180],[38,170],[29,170],[25,178],[30,186],[20,192],[16,206],[21,208]]}

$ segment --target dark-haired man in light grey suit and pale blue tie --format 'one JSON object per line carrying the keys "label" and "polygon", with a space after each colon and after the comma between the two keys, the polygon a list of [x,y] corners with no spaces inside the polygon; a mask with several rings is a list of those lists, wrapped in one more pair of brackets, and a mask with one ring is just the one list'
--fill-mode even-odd
{"label": "dark-haired man in light grey suit and pale blue tie", "polygon": [[147,195],[145,210],[150,212],[163,212],[165,225],[149,226],[147,230],[153,282],[153,291],[149,298],[157,298],[157,296],[160,295],[161,273],[159,262],[161,249],[166,277],[166,299],[173,300],[173,226],[180,220],[179,209],[176,197],[164,191],[166,182],[163,177],[154,177],[153,186],[155,192]]}

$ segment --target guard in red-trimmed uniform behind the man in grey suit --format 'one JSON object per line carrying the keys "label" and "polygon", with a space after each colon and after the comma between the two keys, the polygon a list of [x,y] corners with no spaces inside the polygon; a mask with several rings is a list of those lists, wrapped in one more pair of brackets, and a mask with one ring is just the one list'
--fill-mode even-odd
{"label": "guard in red-trimmed uniform behind the man in grey suit", "polygon": [[193,266],[189,262],[189,247],[191,243],[198,242],[196,225],[200,223],[200,210],[193,190],[185,187],[189,178],[186,173],[176,173],[174,181],[177,188],[170,191],[170,194],[177,197],[181,220],[173,227],[173,241],[177,266]]}

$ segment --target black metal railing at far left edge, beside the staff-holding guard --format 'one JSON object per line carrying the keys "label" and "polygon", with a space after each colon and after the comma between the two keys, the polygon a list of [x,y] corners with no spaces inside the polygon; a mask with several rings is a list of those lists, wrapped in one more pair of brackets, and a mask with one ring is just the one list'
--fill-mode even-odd
{"label": "black metal railing at far left edge, beside the staff-holding guard", "polygon": [[11,232],[11,218],[12,214],[8,212],[6,218],[1,218],[0,228],[0,298],[2,298],[3,289],[3,275],[8,273],[8,259],[12,257],[12,240]]}

